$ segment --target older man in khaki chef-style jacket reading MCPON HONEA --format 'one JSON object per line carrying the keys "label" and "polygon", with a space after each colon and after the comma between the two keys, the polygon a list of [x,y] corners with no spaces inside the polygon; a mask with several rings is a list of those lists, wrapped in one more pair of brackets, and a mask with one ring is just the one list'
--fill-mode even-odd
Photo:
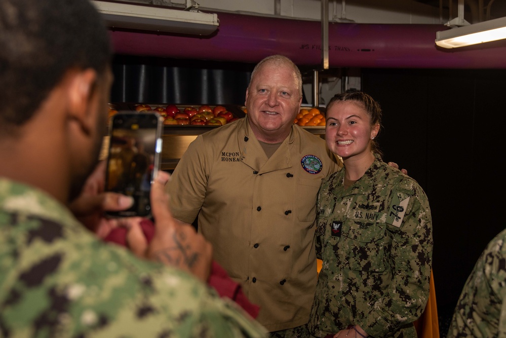
{"label": "older man in khaki chef-style jacket reading MCPON HONEA", "polygon": [[271,336],[307,336],[317,280],[316,197],[340,168],[325,141],[293,124],[300,71],[286,57],[255,67],[247,117],[200,135],[167,189],[174,216],[191,223],[214,257],[260,306]]}

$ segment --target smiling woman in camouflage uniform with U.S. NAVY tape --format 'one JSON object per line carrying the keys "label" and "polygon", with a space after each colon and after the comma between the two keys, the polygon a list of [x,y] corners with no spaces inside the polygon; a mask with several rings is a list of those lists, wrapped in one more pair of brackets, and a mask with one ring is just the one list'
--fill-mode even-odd
{"label": "smiling woman in camouflage uniform with U.S. NAVY tape", "polygon": [[[326,140],[344,168],[322,183],[316,247],[323,260],[309,321],[313,336],[416,337],[429,297],[432,219],[411,177],[382,162],[381,109],[369,95],[335,95]],[[351,327],[351,328],[348,328]]]}

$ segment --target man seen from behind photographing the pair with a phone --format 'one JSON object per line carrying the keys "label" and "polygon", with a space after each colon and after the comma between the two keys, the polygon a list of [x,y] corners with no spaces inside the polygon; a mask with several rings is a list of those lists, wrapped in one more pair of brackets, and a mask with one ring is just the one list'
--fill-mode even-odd
{"label": "man seen from behind photographing the pair with a phone", "polygon": [[203,282],[211,254],[171,217],[167,173],[152,186],[156,232],[145,258],[178,268],[107,244],[76,219],[132,202],[110,193],[94,205],[81,194],[105,134],[110,58],[88,0],[0,2],[0,337],[265,336]]}

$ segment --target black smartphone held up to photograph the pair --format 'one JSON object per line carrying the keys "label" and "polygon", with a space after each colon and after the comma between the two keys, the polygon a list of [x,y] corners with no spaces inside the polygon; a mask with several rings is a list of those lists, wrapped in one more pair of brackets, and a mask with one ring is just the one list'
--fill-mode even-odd
{"label": "black smartphone held up to photograph the pair", "polygon": [[151,216],[151,183],[160,170],[163,118],[156,112],[119,111],[109,123],[105,190],[134,198],[109,216]]}

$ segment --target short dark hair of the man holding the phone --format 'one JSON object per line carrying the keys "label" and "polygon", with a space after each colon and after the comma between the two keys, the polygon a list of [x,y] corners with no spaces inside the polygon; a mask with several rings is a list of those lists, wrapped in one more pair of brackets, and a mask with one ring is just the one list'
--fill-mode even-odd
{"label": "short dark hair of the man holding the phone", "polygon": [[0,130],[27,122],[69,69],[99,76],[109,35],[89,0],[0,1]]}

